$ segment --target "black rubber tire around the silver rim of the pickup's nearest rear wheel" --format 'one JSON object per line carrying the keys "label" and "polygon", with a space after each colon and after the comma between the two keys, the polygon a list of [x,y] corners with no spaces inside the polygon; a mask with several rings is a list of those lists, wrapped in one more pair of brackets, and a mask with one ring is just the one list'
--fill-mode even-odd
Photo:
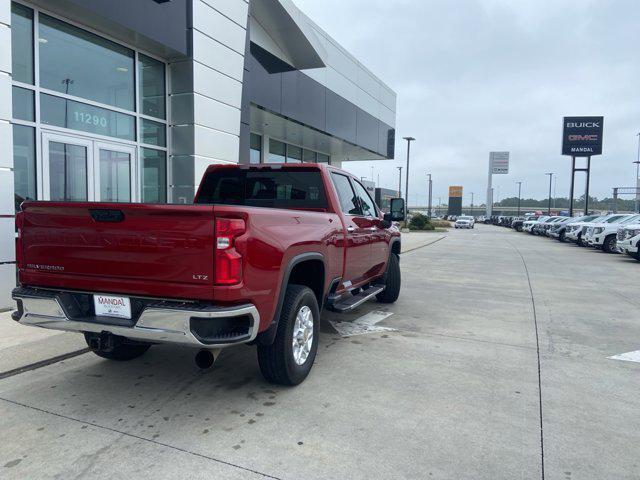
{"label": "black rubber tire around the silver rim of the pickup's nearest rear wheel", "polygon": [[[313,338],[309,354],[298,365],[293,353],[293,329],[298,312],[303,307],[311,309]],[[320,335],[320,309],[313,291],[302,285],[288,285],[278,321],[276,338],[271,345],[258,345],[258,364],[264,378],[277,385],[298,385],[307,378],[318,351]]]}

